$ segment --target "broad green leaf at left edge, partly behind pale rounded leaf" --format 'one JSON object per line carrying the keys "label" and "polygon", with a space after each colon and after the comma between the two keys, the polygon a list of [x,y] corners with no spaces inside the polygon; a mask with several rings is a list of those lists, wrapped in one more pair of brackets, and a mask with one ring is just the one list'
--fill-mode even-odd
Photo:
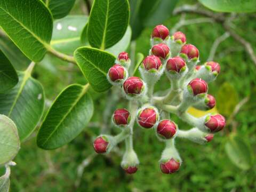
{"label": "broad green leaf at left edge, partly behind pale rounded leaf", "polygon": [[19,83],[9,92],[0,94],[0,114],[14,121],[20,140],[23,141],[35,130],[43,114],[44,90],[28,70],[25,73],[19,72],[18,76]]}

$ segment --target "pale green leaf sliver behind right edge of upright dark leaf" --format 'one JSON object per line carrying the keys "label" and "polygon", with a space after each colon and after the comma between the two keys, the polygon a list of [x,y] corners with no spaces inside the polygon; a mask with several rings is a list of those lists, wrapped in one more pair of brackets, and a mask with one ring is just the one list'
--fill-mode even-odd
{"label": "pale green leaf sliver behind right edge of upright dark leaf", "polygon": [[131,37],[132,37],[132,29],[130,26],[128,26],[123,38],[119,42],[117,42],[115,45],[106,49],[106,51],[109,53],[112,53],[117,57],[119,53],[121,53],[122,51],[125,51],[128,48],[131,41]]}

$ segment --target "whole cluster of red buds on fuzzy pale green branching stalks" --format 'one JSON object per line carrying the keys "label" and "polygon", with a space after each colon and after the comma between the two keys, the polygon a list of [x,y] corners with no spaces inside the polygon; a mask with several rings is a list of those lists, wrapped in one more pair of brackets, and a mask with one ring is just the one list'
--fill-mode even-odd
{"label": "whole cluster of red buds on fuzzy pale green branching stalks", "polygon": [[[133,149],[134,123],[144,129],[154,129],[158,140],[165,142],[160,169],[170,174],[179,170],[182,159],[175,148],[175,138],[185,138],[204,144],[213,139],[226,125],[220,114],[207,114],[196,118],[187,110],[193,106],[199,110],[209,110],[215,106],[215,99],[207,94],[208,84],[220,73],[220,65],[209,61],[199,63],[196,46],[186,44],[186,36],[180,31],[169,35],[169,30],[158,25],[151,35],[149,55],[139,67],[142,78],[129,76],[131,60],[126,52],[119,54],[113,67],[108,71],[108,80],[118,86],[123,96],[130,100],[129,108],[116,109],[112,120],[122,131],[116,136],[100,135],[94,141],[97,153],[109,153],[119,142],[125,140],[125,153],[121,166],[129,173],[138,170],[139,159]],[[170,91],[163,97],[154,96],[156,82],[165,74],[170,80]],[[180,130],[170,119],[170,114],[193,126],[190,130]]]}

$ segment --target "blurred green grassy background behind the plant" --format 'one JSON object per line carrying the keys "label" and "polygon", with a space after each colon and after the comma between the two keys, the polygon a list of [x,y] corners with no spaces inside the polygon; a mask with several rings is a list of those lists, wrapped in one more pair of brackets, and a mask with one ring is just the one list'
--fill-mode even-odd
{"label": "blurred green grassy background behind the plant", "polygon": [[[179,1],[177,6],[188,3],[197,1]],[[71,14],[83,14],[81,10],[81,1],[76,1]],[[164,20],[163,25],[171,29],[181,17],[204,18],[192,13],[179,14]],[[233,23],[237,33],[250,42],[256,52],[256,14],[236,14]],[[137,41],[133,42],[135,53],[148,54],[153,28],[143,29]],[[186,34],[187,43],[198,48],[202,63],[209,57],[215,39],[225,33],[221,24],[216,22],[195,23],[179,30]],[[256,191],[256,166],[253,163],[256,153],[256,65],[244,46],[233,37],[227,37],[220,43],[214,61],[220,63],[221,73],[217,81],[209,85],[209,93],[217,98],[218,110],[228,119],[228,126],[207,145],[177,139],[176,146],[183,159],[177,173],[161,173],[158,160],[164,143],[157,140],[153,130],[142,130],[137,126],[134,129],[134,147],[140,159],[137,173],[127,175],[121,169],[123,143],[116,152],[107,156],[95,155],[93,139],[100,134],[102,126],[110,123],[110,118],[102,117],[108,113],[105,108],[114,92],[110,90],[106,93],[93,92],[95,113],[92,121],[68,145],[52,151],[39,149],[36,133],[22,143],[14,159],[17,166],[12,168],[11,191]],[[48,107],[68,84],[86,83],[77,67],[58,60],[50,67],[36,65],[33,76],[45,88]],[[163,77],[155,89],[164,90],[169,86]],[[242,100],[244,105],[234,113]],[[125,104],[126,100],[118,100],[119,106]],[[116,107],[111,106],[110,114]],[[180,129],[189,129],[177,117],[171,118]],[[87,161],[84,165],[88,165],[80,178],[77,169],[84,160]],[[234,163],[236,160],[238,162]]]}

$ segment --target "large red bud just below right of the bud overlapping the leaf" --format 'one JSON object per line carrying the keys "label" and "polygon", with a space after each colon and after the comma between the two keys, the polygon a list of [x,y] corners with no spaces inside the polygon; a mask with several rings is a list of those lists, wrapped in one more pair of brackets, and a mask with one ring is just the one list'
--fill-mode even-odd
{"label": "large red bud just below right of the bud overlapping the leaf", "polygon": [[123,84],[126,94],[140,94],[143,87],[143,82],[139,77],[129,77]]}

